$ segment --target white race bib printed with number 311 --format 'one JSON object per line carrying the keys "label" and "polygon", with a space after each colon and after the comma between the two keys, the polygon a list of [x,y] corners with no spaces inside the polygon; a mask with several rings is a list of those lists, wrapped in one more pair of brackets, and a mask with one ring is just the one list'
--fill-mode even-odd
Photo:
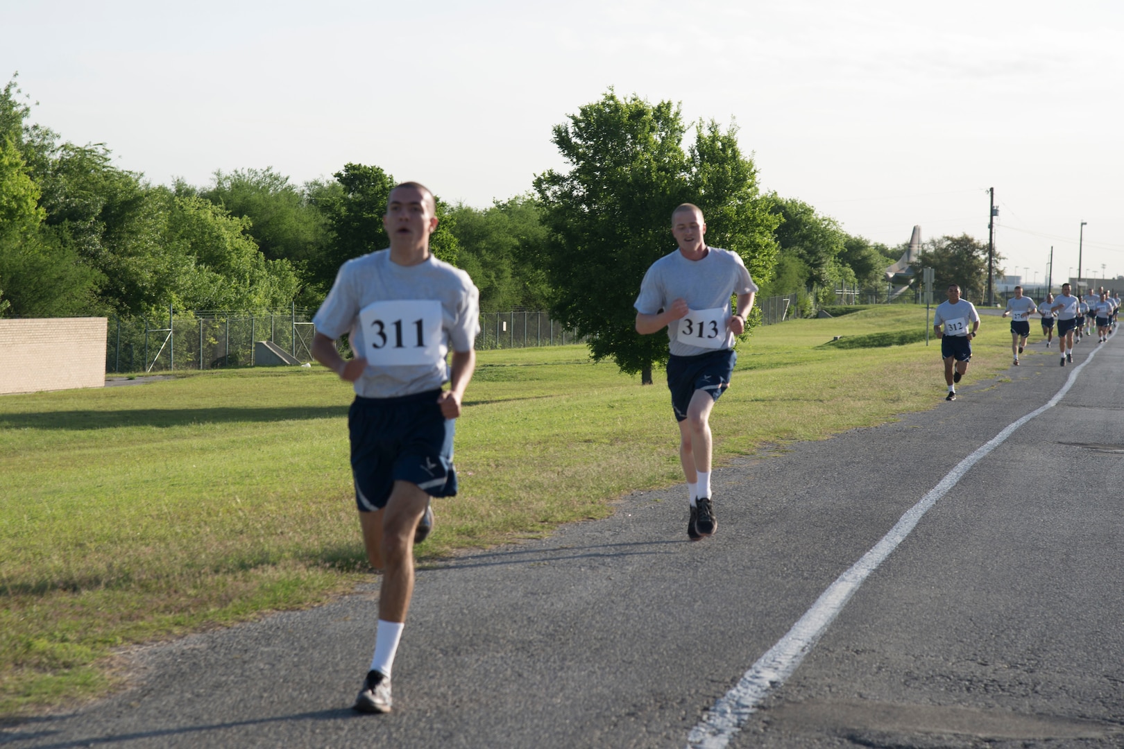
{"label": "white race bib printed with number 311", "polygon": [[371,366],[437,364],[441,350],[441,302],[430,299],[368,304],[359,313],[363,330],[360,354]]}

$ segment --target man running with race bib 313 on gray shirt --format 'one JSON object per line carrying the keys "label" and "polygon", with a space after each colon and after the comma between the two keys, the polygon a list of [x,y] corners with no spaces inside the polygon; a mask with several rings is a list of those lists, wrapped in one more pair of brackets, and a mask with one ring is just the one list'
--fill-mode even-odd
{"label": "man running with race bib 313 on gray shirt", "polygon": [[[668,329],[668,387],[679,422],[679,462],[687,478],[691,540],[718,528],[710,494],[710,411],[729,386],[737,355],[734,337],[745,330],[758,285],[737,253],[708,247],[706,221],[697,205],[671,213],[679,248],[647,270],[636,298],[636,332]],[[734,314],[731,296],[737,296]]]}

